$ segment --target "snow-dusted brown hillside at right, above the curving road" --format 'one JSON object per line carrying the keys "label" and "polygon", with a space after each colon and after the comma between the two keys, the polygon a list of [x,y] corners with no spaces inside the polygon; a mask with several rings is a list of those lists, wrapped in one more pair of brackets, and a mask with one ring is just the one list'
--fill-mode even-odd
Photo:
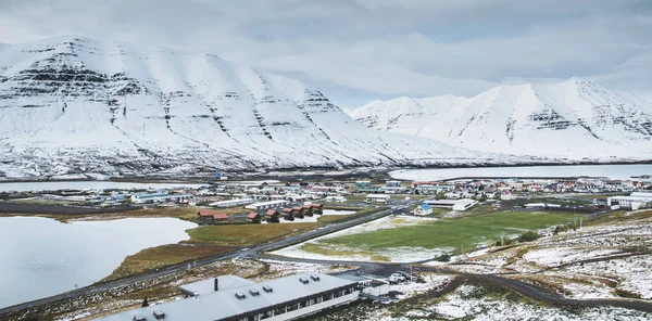
{"label": "snow-dusted brown hillside at right, above the curving road", "polygon": [[449,267],[512,273],[569,298],[652,299],[652,219],[582,228]]}

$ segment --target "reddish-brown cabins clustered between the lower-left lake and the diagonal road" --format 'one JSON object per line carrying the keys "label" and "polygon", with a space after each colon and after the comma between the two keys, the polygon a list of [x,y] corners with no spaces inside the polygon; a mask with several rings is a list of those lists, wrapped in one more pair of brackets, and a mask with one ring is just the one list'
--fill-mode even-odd
{"label": "reddish-brown cabins clustered between the lower-left lake and the diagonal road", "polygon": [[[268,223],[278,223],[281,219],[293,221],[296,219],[303,219],[305,217],[322,215],[324,213],[324,205],[316,203],[304,203],[303,205],[285,207],[268,207],[267,205],[268,204],[252,204],[251,207],[248,206],[248,208],[259,208],[260,210],[246,214],[247,221],[252,223],[260,223],[263,221]],[[212,209],[200,209],[197,213],[197,218],[203,221],[218,222],[227,221],[229,219],[229,215]]]}

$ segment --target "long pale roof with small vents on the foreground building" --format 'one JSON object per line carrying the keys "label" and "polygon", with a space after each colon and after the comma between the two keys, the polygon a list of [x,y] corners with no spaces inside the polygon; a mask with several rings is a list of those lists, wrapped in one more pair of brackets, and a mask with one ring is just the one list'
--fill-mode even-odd
{"label": "long pale roof with small vents on the foreground building", "polygon": [[[319,281],[314,281],[311,278],[313,274],[317,275]],[[300,282],[299,279],[301,278],[308,282]],[[149,317],[152,316],[153,310],[158,309],[165,313],[166,321],[214,321],[355,284],[356,282],[328,274],[301,273],[241,287],[218,291],[212,294],[200,295],[198,299],[187,298],[171,301],[96,320],[133,321],[134,314],[136,313]],[[268,286],[273,291],[263,291],[263,286]],[[250,290],[258,291],[259,295],[251,295],[249,292]],[[237,298],[236,293],[244,294],[244,298]]]}

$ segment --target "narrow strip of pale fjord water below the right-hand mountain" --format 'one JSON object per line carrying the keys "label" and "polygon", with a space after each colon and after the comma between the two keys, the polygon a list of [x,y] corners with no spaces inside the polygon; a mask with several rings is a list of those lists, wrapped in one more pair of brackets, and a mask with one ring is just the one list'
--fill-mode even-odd
{"label": "narrow strip of pale fjord water below the right-hand mountain", "polygon": [[394,170],[389,175],[396,179],[405,180],[441,180],[461,177],[543,178],[579,176],[629,179],[632,176],[652,175],[652,164],[431,168]]}

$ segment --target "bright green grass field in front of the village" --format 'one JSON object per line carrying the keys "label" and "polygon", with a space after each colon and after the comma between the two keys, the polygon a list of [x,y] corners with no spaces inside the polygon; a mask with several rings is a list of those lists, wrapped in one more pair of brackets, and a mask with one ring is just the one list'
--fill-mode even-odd
{"label": "bright green grass field in front of the village", "polygon": [[[488,243],[490,240],[499,240],[501,235],[515,235],[526,230],[562,224],[572,218],[572,214],[502,211],[326,239],[314,245],[323,246],[324,251],[327,251],[326,248],[358,248],[363,252],[383,253],[384,249],[393,247],[422,246],[455,248],[455,252],[459,253],[461,247],[468,249],[478,244]],[[310,247],[304,249],[311,251]],[[314,246],[312,249],[315,252]]]}

